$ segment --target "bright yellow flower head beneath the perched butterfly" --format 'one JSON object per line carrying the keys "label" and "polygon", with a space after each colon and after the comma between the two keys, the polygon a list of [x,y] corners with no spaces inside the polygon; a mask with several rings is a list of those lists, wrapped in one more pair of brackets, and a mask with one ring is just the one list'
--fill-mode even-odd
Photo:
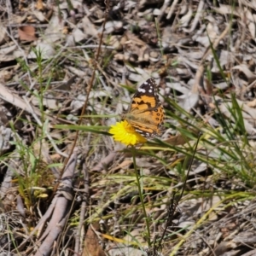
{"label": "bright yellow flower head beneath the perched butterfly", "polygon": [[146,143],[147,140],[140,135],[127,121],[121,121],[110,127],[109,133],[113,134],[113,139],[125,145],[135,145]]}

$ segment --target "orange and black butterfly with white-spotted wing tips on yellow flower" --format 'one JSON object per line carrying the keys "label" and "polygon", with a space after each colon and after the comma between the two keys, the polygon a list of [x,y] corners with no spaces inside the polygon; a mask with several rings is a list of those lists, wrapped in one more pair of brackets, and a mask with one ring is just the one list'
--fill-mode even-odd
{"label": "orange and black butterfly with white-spotted wing tips on yellow flower", "polygon": [[150,78],[141,84],[131,99],[129,111],[123,113],[121,118],[143,137],[153,138],[162,134],[165,111],[154,79]]}

